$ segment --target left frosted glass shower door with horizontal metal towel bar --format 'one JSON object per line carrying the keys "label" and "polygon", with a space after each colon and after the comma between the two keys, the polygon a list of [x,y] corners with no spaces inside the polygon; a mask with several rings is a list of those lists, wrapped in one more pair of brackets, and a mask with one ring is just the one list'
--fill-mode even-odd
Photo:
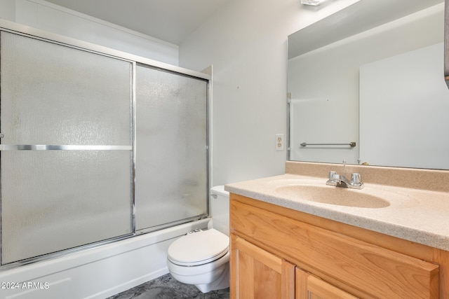
{"label": "left frosted glass shower door with horizontal metal towel bar", "polygon": [[1,32],[1,264],[133,232],[133,64]]}

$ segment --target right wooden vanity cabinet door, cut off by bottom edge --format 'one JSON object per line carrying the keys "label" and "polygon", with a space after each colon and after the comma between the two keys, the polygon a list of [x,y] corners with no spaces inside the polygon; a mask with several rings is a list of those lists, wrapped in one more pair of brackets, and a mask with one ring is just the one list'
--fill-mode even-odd
{"label": "right wooden vanity cabinet door, cut off by bottom edge", "polygon": [[296,299],[357,299],[357,297],[296,268]]}

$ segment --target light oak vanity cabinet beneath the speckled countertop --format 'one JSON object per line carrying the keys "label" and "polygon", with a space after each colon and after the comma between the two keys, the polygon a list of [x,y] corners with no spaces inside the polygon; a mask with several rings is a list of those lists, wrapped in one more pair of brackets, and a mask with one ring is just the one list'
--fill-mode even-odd
{"label": "light oak vanity cabinet beneath the speckled countertop", "polygon": [[449,299],[448,251],[233,193],[229,210],[231,298]]}

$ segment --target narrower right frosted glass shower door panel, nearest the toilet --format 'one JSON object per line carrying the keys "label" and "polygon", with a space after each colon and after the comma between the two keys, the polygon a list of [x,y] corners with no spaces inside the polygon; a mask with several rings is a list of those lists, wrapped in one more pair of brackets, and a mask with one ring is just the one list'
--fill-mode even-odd
{"label": "narrower right frosted glass shower door panel, nearest the toilet", "polygon": [[136,230],[207,214],[207,81],[136,69]]}

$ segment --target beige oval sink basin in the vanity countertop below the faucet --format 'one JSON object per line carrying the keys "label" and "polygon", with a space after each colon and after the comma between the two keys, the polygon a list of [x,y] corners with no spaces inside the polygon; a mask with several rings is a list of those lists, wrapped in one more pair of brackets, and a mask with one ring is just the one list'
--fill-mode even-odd
{"label": "beige oval sink basin in the vanity countertop below the faucet", "polygon": [[346,207],[380,209],[388,207],[387,200],[364,193],[363,190],[333,186],[286,185],[276,188],[276,192],[298,200],[309,200],[323,204],[335,204]]}

